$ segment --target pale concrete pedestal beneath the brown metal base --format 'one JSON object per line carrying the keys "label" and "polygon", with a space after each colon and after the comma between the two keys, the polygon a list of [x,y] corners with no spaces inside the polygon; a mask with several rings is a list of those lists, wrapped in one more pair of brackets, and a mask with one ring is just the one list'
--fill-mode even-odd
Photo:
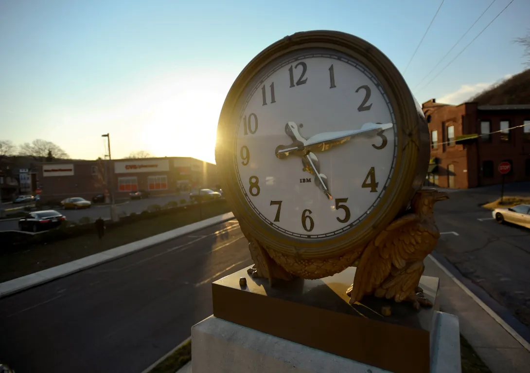
{"label": "pale concrete pedestal beneath the brown metal base", "polygon": [[[436,315],[430,371],[461,373],[458,318],[438,311]],[[193,326],[191,338],[193,373],[388,372],[214,316]]]}

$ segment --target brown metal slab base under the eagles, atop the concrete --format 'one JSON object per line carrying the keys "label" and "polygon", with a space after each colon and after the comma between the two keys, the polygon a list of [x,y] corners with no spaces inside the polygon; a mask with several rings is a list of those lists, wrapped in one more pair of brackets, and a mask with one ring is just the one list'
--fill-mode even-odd
{"label": "brown metal slab base under the eagles, atop the concrete", "polygon": [[[437,277],[421,277],[434,306],[416,310],[373,296],[350,305],[346,291],[355,267],[320,280],[278,280],[273,288],[247,270],[212,283],[215,317],[395,373],[429,372]],[[383,316],[388,307],[390,316]]]}

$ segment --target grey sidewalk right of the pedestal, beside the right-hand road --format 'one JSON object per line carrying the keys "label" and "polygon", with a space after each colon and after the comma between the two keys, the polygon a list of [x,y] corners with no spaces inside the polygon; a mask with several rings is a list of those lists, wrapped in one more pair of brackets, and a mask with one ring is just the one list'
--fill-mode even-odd
{"label": "grey sidewalk right of the pedestal, beside the right-hand road", "polygon": [[[492,373],[523,373],[530,368],[530,351],[438,266],[430,255],[423,275],[440,279],[440,309],[458,316],[460,333]],[[487,306],[486,306],[487,307]],[[500,320],[502,323],[502,320]],[[509,328],[509,327],[508,327]]]}

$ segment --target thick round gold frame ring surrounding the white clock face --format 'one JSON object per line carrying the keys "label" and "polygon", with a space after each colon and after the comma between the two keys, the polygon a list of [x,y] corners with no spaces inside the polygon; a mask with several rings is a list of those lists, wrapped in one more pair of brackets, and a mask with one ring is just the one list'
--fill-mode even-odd
{"label": "thick round gold frame ring surrounding the white clock face", "polygon": [[[364,64],[383,86],[394,109],[398,127],[395,170],[381,201],[355,227],[340,235],[322,239],[287,236],[264,222],[246,202],[237,182],[234,167],[234,141],[239,117],[236,104],[248,85],[273,60],[293,51],[325,48],[346,54]],[[228,91],[219,116],[215,159],[223,195],[232,207],[245,236],[251,236],[264,248],[283,257],[307,264],[325,258],[348,256],[352,247],[363,247],[385,229],[396,215],[407,209],[427,175],[430,154],[429,130],[425,116],[402,75],[379,49],[348,33],[328,30],[298,32],[281,39],[255,56],[237,76]],[[357,256],[357,255],[355,255]],[[355,260],[355,259],[354,259]],[[351,263],[350,263],[351,264]],[[349,264],[348,264],[349,265]],[[343,268],[342,268],[343,269]]]}

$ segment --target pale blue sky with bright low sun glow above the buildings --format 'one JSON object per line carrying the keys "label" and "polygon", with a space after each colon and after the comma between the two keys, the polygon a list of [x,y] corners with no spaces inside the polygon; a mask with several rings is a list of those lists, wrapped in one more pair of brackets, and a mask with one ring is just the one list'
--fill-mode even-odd
{"label": "pale blue sky with bright low sun glow above the buildings", "polygon": [[[215,162],[226,94],[262,49],[298,31],[338,30],[392,60],[418,102],[461,103],[524,70],[530,1],[0,0],[0,140],[52,141],[74,159],[144,150]],[[421,84],[419,84],[421,82]]]}

